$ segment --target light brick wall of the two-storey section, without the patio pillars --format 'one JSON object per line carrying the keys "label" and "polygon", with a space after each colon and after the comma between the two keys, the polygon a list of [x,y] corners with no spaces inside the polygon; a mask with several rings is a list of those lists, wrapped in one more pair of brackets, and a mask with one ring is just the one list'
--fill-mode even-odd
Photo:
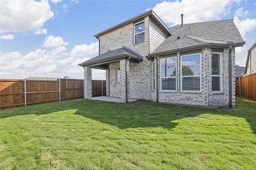
{"label": "light brick wall of the two-storey section, without the patio pillars", "polygon": [[[143,56],[143,61],[140,63],[129,64],[129,96],[131,99],[151,100],[151,95],[148,91],[151,90],[151,61],[146,59],[149,53],[149,21],[148,17],[144,18],[145,37],[144,42],[134,44],[134,24],[127,24],[121,28],[115,29],[112,32],[100,36],[100,53],[108,52],[109,50],[127,46],[134,52]],[[121,97],[122,83],[116,80],[116,67],[120,66],[119,62],[110,63],[110,96]],[[128,67],[127,67],[128,68]],[[122,72],[122,71],[121,71]]]}

